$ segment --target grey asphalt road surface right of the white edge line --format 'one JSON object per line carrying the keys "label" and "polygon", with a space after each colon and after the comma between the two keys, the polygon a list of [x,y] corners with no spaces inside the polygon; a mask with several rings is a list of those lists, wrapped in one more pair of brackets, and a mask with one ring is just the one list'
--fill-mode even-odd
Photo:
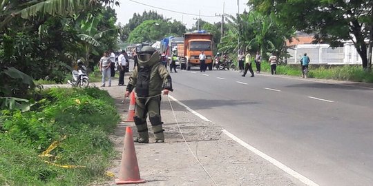
{"label": "grey asphalt road surface right of the white edge line", "polygon": [[191,109],[318,185],[373,185],[373,89],[285,76],[171,74]]}

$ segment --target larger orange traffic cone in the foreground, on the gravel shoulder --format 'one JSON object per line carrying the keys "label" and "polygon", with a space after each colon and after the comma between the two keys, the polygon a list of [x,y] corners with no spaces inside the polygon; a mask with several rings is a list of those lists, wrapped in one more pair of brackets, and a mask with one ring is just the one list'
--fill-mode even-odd
{"label": "larger orange traffic cone in the foreground, on the gravel shoulder", "polygon": [[120,165],[119,178],[115,179],[115,184],[145,183],[140,178],[139,165],[133,143],[133,134],[131,127],[126,127],[126,136],[124,136],[124,149],[122,152],[122,163]]}

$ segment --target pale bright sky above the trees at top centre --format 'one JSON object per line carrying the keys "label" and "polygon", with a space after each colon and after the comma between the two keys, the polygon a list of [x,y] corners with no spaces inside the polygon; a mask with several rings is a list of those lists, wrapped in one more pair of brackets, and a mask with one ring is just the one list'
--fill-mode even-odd
{"label": "pale bright sky above the trees at top centre", "polygon": [[[220,22],[223,4],[225,14],[236,15],[238,12],[238,1],[240,2],[240,12],[242,13],[245,8],[247,9],[245,5],[247,0],[119,0],[120,7],[114,6],[114,8],[115,12],[117,12],[117,23],[122,25],[128,23],[129,19],[133,17],[133,13],[142,14],[144,10],[147,12],[155,10],[166,18],[176,19],[184,23],[187,28],[192,28],[199,14],[202,20],[209,23]],[[216,14],[220,14],[220,17],[216,16]]]}

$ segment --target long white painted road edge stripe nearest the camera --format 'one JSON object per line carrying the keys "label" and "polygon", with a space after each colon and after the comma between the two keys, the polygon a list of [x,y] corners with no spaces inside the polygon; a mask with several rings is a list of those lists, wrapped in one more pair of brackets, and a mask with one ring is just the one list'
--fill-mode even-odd
{"label": "long white painted road edge stripe nearest the camera", "polygon": [[309,180],[309,178],[306,178],[302,174],[299,174],[298,172],[295,172],[293,169],[287,167],[286,165],[284,165],[283,163],[280,163],[279,161],[276,161],[276,159],[272,158],[271,156],[268,156],[267,154],[264,154],[260,150],[256,149],[255,147],[245,143],[240,138],[234,136],[233,134],[231,134],[227,130],[222,130],[222,132],[224,134],[226,134],[227,136],[229,136],[229,138],[231,138],[233,141],[236,141],[238,144],[240,144],[240,145],[246,147],[247,149],[249,149],[249,151],[254,152],[256,155],[262,157],[266,161],[269,161],[269,163],[272,163],[276,167],[282,169],[284,172],[286,172],[287,174],[290,174],[294,178],[300,180],[305,185],[318,186],[318,184],[314,183],[312,180]]}

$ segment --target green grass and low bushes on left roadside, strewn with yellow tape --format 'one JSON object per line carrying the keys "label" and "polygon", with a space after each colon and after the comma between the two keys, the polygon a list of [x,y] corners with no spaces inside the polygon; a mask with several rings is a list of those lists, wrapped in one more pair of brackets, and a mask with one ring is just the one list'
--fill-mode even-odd
{"label": "green grass and low bushes on left roadside, strewn with yellow tape", "polygon": [[118,121],[113,99],[97,87],[52,88],[27,112],[2,110],[0,185],[89,185],[106,179],[115,156],[108,133]]}

